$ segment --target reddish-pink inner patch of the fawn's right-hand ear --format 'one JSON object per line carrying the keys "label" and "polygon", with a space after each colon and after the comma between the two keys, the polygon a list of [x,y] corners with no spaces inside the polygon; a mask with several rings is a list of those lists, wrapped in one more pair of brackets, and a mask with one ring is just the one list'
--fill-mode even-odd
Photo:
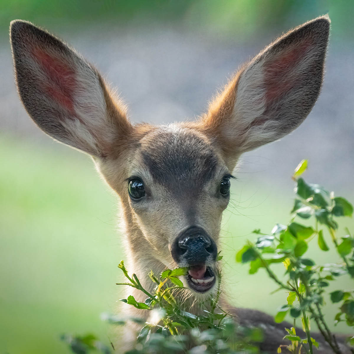
{"label": "reddish-pink inner patch of the fawn's right-hand ear", "polygon": [[301,80],[302,70],[296,70],[297,65],[304,58],[308,49],[312,45],[312,40],[304,39],[301,42],[292,45],[290,49],[283,50],[283,53],[264,64],[265,75],[265,99],[272,102],[278,99],[282,94],[291,90]]}

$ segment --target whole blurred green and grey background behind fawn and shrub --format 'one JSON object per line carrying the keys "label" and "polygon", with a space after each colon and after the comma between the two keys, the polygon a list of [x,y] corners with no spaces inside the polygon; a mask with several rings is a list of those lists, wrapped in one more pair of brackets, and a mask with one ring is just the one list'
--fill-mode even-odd
{"label": "whole blurred green and grey background behind fawn and shrub", "polygon": [[[354,2],[0,0],[1,353],[68,353],[59,341],[64,332],[108,342],[99,315],[115,312],[124,294],[115,285],[125,257],[118,200],[90,158],[53,142],[28,118],[13,81],[10,21],[32,21],[77,48],[118,88],[132,121],[168,123],[194,119],[242,62],[325,13],[332,32],[318,103],[290,136],[242,157],[223,221],[230,300],[271,314],[285,295],[270,296],[275,286],[265,273],[248,275],[235,253],[254,239],[253,229],[269,232],[289,220],[298,162],[309,159],[307,181],[354,200]],[[344,225],[354,229],[351,219]],[[338,259],[313,248],[319,262]],[[326,309],[331,327],[335,312]]]}

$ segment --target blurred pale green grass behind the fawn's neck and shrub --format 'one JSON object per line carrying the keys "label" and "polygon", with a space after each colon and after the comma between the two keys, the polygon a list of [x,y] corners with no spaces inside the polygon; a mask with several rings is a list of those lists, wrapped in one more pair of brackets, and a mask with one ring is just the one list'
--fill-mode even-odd
{"label": "blurred pale green grass behind the fawn's neck and shrub", "polygon": [[[124,291],[115,285],[124,255],[116,232],[119,211],[114,193],[100,181],[90,158],[63,145],[0,136],[0,160],[2,352],[68,353],[58,339],[64,332],[92,332],[107,342],[108,328],[99,314],[114,312]],[[279,197],[266,198],[264,191],[252,197],[255,187],[233,183],[235,203],[247,201],[238,208],[230,206],[224,218],[225,289],[237,306],[274,314],[285,295],[269,297],[276,287],[263,270],[250,276],[247,266],[235,263],[235,253],[247,237],[254,239],[251,230],[269,232],[276,222],[288,221],[291,188],[282,200],[282,191],[277,191]],[[263,183],[265,188],[267,181]],[[257,186],[260,191],[263,187]],[[250,203],[253,209],[246,207]],[[353,220],[345,221],[353,230]],[[316,260],[323,254],[314,253]],[[329,252],[319,261],[337,259]],[[348,287],[347,279],[341,281]],[[334,313],[332,306],[328,322]]]}

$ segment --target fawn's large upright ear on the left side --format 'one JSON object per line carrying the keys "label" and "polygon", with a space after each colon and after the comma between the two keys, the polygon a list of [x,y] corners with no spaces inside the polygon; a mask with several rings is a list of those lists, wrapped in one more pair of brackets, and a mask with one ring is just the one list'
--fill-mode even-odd
{"label": "fawn's large upright ear on the left side", "polygon": [[10,37],[19,96],[48,135],[96,157],[132,127],[125,108],[113,102],[95,68],[78,53],[32,23],[11,22]]}

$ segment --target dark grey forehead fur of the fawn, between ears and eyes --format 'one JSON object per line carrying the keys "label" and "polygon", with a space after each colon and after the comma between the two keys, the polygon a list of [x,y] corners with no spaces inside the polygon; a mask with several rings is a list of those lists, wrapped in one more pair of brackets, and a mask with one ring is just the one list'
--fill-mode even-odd
{"label": "dark grey forehead fur of the fawn, between ears and eyes", "polygon": [[152,134],[141,153],[159,184],[176,192],[186,188],[193,192],[215,175],[218,156],[193,130],[161,127]]}

